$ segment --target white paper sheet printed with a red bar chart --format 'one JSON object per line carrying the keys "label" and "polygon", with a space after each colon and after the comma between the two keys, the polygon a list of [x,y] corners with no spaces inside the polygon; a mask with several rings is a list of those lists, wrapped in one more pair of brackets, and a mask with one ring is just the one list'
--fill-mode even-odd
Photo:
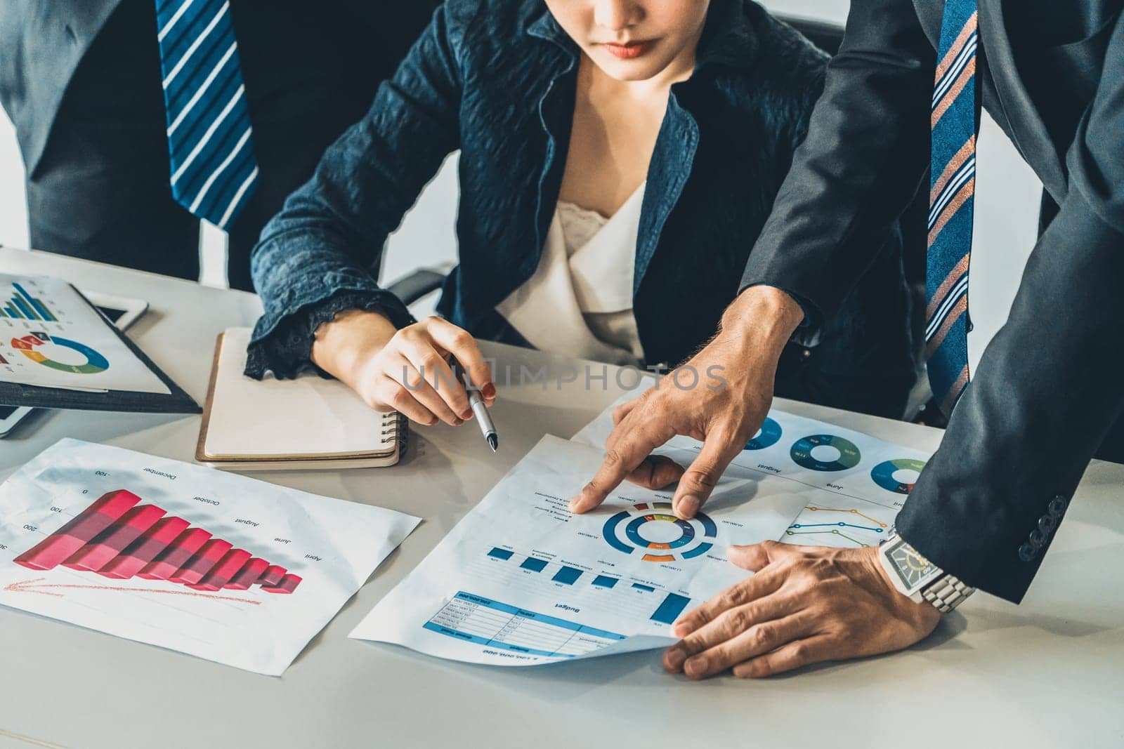
{"label": "white paper sheet printed with a red bar chart", "polygon": [[280,676],[418,522],[64,439],[0,485],[0,604]]}

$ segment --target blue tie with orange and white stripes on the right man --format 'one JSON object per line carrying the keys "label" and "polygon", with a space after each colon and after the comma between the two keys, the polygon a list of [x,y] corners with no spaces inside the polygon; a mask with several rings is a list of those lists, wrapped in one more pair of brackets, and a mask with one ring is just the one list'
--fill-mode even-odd
{"label": "blue tie with orange and white stripes on the right man", "polygon": [[976,194],[976,0],[948,0],[933,89],[925,356],[952,413],[968,385],[968,262]]}

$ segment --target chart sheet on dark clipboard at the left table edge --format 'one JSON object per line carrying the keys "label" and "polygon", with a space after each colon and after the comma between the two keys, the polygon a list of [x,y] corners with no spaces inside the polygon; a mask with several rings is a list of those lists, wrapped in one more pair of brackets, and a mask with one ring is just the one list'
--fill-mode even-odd
{"label": "chart sheet on dark clipboard at the left table edge", "polygon": [[169,394],[64,281],[0,273],[0,382]]}

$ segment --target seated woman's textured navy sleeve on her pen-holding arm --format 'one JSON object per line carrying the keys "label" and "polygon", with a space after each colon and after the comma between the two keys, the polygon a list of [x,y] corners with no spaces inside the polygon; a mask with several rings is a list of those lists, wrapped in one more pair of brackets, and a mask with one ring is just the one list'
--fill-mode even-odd
{"label": "seated woman's textured navy sleeve on her pen-holding arm", "polygon": [[[362,120],[324,154],[312,179],[292,193],[262,230],[251,257],[254,287],[265,313],[257,321],[251,360],[291,374],[311,340],[301,317],[346,295],[379,309],[402,327],[406,305],[381,289],[375,273],[388,235],[401,222],[442,161],[459,147],[461,70],[457,34],[469,3],[446,3],[382,84]],[[361,303],[360,303],[361,300]],[[314,316],[315,317],[315,316]],[[292,339],[302,339],[294,346]],[[297,357],[299,358],[299,356]]]}

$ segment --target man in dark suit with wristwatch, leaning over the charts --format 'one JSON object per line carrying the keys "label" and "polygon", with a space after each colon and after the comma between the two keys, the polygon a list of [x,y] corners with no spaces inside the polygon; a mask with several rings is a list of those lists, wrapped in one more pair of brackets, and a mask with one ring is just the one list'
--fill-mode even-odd
{"label": "man in dark suit with wristwatch, leaning over the charts", "polygon": [[[743,293],[692,364],[729,387],[665,386],[622,407],[607,457],[573,499],[623,478],[679,477],[692,515],[762,422],[777,353],[853,286],[926,171],[926,339],[951,413],[881,548],[763,544],[756,574],[678,622],[664,666],[765,676],[886,652],[926,637],[972,586],[1018,602],[1089,459],[1120,460],[1124,409],[1124,0],[852,0],[826,89],[761,238]],[[1007,323],[967,362],[979,104],[1041,177],[1041,236]],[[977,247],[1003,253],[1005,247]],[[704,440],[682,473],[649,454]]]}

